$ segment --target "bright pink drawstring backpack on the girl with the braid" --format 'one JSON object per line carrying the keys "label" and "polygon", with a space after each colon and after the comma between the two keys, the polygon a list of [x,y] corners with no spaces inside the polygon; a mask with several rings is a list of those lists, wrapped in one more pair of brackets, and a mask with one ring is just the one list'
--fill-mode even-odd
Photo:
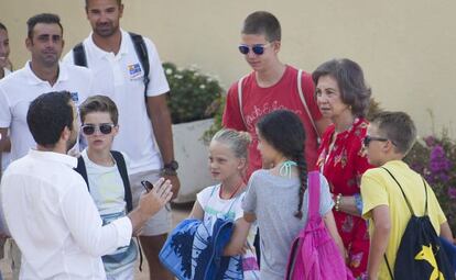
{"label": "bright pink drawstring backpack on the girl with the braid", "polygon": [[308,173],[308,219],[294,239],[285,280],[355,279],[319,215],[319,172]]}

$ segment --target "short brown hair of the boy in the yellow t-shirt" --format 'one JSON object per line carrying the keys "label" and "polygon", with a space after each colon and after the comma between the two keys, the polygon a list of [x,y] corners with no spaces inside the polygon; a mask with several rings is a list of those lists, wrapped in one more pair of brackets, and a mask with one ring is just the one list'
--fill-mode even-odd
{"label": "short brown hair of the boy in the yellow t-shirt", "polygon": [[416,127],[413,120],[404,112],[380,112],[371,122],[379,133],[394,144],[395,152],[406,155],[416,141]]}

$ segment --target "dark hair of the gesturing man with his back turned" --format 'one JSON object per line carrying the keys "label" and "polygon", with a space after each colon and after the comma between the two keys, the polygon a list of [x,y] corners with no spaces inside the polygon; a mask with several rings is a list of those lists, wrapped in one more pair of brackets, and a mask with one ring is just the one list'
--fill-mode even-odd
{"label": "dark hair of the gesturing man with his back turned", "polygon": [[26,123],[35,142],[53,148],[65,127],[73,131],[73,107],[68,91],[41,94],[29,107]]}

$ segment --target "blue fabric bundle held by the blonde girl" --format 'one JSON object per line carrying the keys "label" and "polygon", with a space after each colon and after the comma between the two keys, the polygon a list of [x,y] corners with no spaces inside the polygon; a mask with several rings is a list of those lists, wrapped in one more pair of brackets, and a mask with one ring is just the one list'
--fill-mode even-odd
{"label": "blue fabric bundle held by the blonde girl", "polygon": [[232,229],[229,220],[217,219],[214,224],[184,220],[167,237],[160,261],[180,280],[241,280],[241,257],[222,256]]}

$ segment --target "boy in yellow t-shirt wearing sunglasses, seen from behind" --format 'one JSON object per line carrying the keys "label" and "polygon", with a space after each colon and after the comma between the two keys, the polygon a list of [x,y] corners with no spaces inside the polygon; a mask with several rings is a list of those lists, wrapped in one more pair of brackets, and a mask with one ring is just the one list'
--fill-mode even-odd
{"label": "boy in yellow t-shirt wearing sunglasses, seen from behind", "polygon": [[367,170],[361,179],[362,216],[369,220],[371,240],[368,279],[391,279],[386,258],[393,272],[411,210],[423,216],[426,202],[432,227],[453,243],[452,231],[432,188],[402,161],[415,138],[415,125],[403,112],[380,113],[368,127],[363,144],[369,163],[378,167]]}

